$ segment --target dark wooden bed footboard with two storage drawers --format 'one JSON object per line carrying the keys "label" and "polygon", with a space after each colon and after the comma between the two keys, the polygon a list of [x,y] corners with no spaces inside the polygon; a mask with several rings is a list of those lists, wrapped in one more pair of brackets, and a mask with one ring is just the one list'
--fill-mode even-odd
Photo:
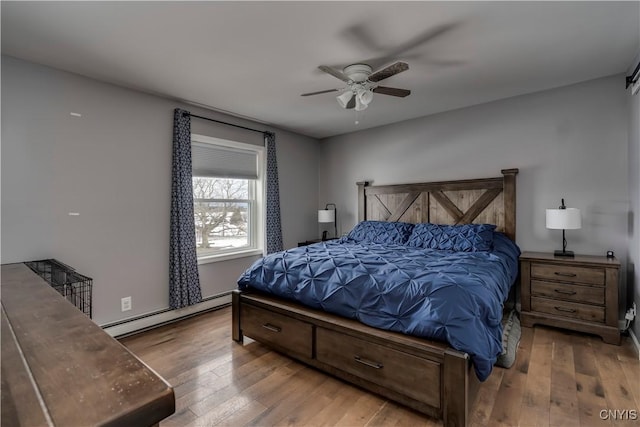
{"label": "dark wooden bed footboard with two storage drawers", "polygon": [[307,365],[442,419],[469,424],[478,380],[469,356],[446,344],[254,292],[232,295],[232,338],[246,335]]}

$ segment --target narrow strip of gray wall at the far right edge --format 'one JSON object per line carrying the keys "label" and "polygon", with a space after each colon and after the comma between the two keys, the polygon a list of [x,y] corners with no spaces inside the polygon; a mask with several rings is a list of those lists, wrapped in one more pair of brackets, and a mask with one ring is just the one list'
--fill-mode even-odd
{"label": "narrow strip of gray wall at the far right edge", "polygon": [[[628,74],[631,74],[640,61],[640,52],[636,55]],[[631,95],[629,99],[629,199],[631,209],[629,213],[629,290],[628,299],[636,303],[640,310],[640,92]],[[630,306],[631,304],[628,304]],[[640,339],[640,320],[636,318],[633,332]]]}

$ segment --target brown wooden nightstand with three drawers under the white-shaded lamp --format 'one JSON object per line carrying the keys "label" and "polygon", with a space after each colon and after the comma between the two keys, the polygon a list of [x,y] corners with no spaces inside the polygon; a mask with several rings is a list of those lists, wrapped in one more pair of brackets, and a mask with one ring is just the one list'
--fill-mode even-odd
{"label": "brown wooden nightstand with three drawers under the white-shaded lamp", "polygon": [[520,256],[522,325],[573,329],[620,345],[619,270],[615,258],[524,252]]}

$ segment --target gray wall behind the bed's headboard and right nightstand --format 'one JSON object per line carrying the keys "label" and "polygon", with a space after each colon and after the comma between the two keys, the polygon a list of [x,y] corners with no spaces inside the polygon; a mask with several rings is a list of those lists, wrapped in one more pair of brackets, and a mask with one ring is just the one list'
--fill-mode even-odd
{"label": "gray wall behind the bed's headboard and right nightstand", "polygon": [[481,178],[519,168],[523,250],[561,248],[561,232],[545,228],[545,209],[564,197],[583,214],[583,228],[567,231],[568,249],[598,255],[612,249],[624,262],[630,163],[623,81],[612,76],[328,138],[321,144],[319,202],[338,205],[346,232],[357,218],[356,181]]}

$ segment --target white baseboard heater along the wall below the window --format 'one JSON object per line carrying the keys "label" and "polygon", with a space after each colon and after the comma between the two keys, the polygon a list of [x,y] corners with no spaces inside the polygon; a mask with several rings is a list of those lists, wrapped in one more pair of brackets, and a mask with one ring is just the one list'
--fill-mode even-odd
{"label": "white baseboard heater along the wall below the window", "polygon": [[133,332],[144,329],[154,328],[165,323],[174,322],[183,317],[193,316],[200,312],[208,311],[216,307],[228,305],[231,303],[231,294],[226,293],[220,296],[207,299],[199,304],[178,310],[163,310],[157,314],[147,314],[144,316],[134,317],[130,320],[125,319],[113,325],[101,325],[102,329],[112,337],[120,337],[131,334]]}

